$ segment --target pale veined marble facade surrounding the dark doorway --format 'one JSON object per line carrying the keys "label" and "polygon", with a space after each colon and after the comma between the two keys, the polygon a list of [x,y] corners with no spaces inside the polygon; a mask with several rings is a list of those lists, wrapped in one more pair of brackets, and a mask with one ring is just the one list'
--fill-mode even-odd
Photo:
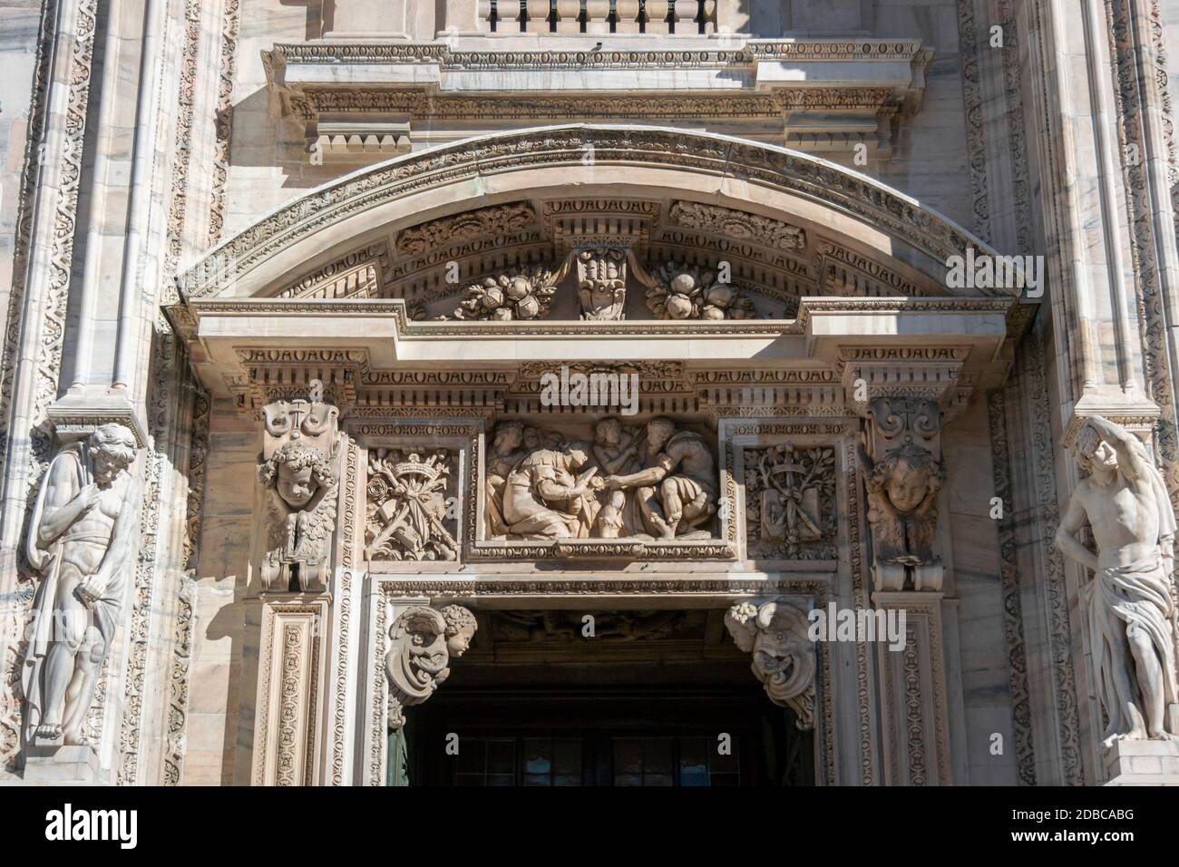
{"label": "pale veined marble facade surrounding the dark doorway", "polygon": [[598,611],[817,784],[1174,782],[1177,27],[0,0],[0,780],[386,784]]}

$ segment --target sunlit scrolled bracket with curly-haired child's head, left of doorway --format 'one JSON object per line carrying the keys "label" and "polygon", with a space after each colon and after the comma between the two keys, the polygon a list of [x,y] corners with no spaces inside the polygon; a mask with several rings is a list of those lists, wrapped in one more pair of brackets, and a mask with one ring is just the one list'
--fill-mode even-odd
{"label": "sunlit scrolled bracket with curly-haired child's head, left of doorway", "polygon": [[279,400],[263,413],[261,589],[324,591],[340,490],[340,410],[321,401]]}

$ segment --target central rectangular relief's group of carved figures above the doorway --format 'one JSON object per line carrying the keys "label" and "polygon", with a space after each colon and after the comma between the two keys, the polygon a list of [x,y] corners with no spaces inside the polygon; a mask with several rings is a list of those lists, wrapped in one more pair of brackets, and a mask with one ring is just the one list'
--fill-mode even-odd
{"label": "central rectangular relief's group of carved figures above the doorway", "polygon": [[717,465],[704,436],[657,418],[608,416],[594,441],[518,421],[492,435],[486,460],[488,538],[706,539]]}

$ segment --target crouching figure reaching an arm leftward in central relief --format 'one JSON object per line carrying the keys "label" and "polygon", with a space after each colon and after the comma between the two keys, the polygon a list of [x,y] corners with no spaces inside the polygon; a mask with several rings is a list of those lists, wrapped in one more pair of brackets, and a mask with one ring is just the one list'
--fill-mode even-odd
{"label": "crouching figure reaching an arm leftward in central relief", "polygon": [[704,438],[676,431],[671,419],[647,422],[644,468],[605,479],[610,491],[633,490],[643,526],[658,539],[707,538],[696,528],[717,512],[717,465]]}

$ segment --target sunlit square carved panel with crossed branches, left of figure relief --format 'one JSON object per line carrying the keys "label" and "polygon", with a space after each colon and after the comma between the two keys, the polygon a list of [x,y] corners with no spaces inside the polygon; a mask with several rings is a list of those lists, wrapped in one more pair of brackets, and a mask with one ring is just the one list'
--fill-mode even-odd
{"label": "sunlit square carved panel with crossed branches, left of figure relief", "polygon": [[[447,493],[456,455],[375,448],[369,452],[364,554],[370,560],[454,560],[457,519]],[[449,510],[453,512],[454,510]]]}

